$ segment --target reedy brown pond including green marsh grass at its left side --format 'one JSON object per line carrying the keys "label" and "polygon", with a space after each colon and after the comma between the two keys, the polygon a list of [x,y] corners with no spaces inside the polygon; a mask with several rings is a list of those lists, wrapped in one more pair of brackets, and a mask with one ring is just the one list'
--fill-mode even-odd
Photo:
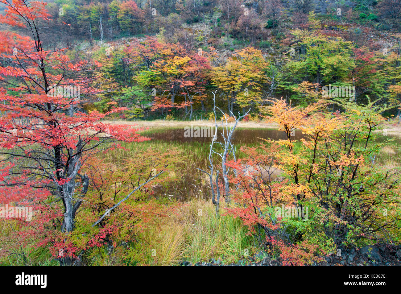
{"label": "reedy brown pond including green marsh grass at its left side", "polygon": [[[219,129],[218,133],[220,134],[221,132],[222,129]],[[262,142],[259,137],[282,138],[284,136],[284,133],[282,133],[271,128],[237,128],[234,133],[237,158],[245,156],[239,150],[240,146],[258,146],[259,142]],[[145,152],[150,147],[162,152],[168,152],[172,147],[178,147],[182,152],[182,156],[185,157],[184,163],[179,165],[181,173],[178,178],[169,183],[166,189],[158,191],[157,197],[174,195],[174,199],[181,201],[186,201],[191,197],[209,199],[209,180],[205,177],[205,173],[198,170],[198,168],[208,170],[211,138],[184,138],[183,127],[152,127],[141,131],[140,134],[152,140],[140,143],[122,143],[121,146],[125,150],[108,150],[103,156],[109,162],[122,164],[127,157]],[[296,133],[296,138],[300,138],[300,132]],[[217,152],[223,150],[219,144],[214,146]],[[217,154],[213,154],[213,160],[214,162],[220,162]]]}

